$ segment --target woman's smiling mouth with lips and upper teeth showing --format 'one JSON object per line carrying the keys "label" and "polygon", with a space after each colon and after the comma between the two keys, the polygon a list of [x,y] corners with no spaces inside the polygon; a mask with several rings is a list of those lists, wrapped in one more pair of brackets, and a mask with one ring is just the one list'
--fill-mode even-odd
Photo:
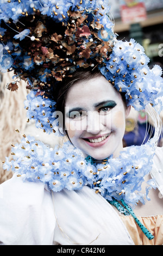
{"label": "woman's smiling mouth with lips and upper teeth showing", "polygon": [[[111,133],[109,133],[108,135],[103,135],[103,136],[84,138],[84,141],[91,147],[101,147],[108,141],[110,134]],[[89,141],[88,141],[88,139],[89,139]]]}

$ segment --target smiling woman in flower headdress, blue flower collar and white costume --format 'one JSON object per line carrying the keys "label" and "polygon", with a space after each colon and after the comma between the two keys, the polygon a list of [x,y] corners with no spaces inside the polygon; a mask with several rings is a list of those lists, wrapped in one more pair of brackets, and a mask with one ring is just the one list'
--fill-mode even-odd
{"label": "smiling woman in flower headdress, blue flower collar and white costume", "polygon": [[[12,144],[0,243],[162,245],[161,68],[149,69],[134,39],[117,40],[108,0],[12,0],[0,9],[0,70],[16,79],[8,88],[26,81],[27,122],[63,138],[54,148],[24,134]],[[131,106],[147,111],[155,132],[123,149]]]}

